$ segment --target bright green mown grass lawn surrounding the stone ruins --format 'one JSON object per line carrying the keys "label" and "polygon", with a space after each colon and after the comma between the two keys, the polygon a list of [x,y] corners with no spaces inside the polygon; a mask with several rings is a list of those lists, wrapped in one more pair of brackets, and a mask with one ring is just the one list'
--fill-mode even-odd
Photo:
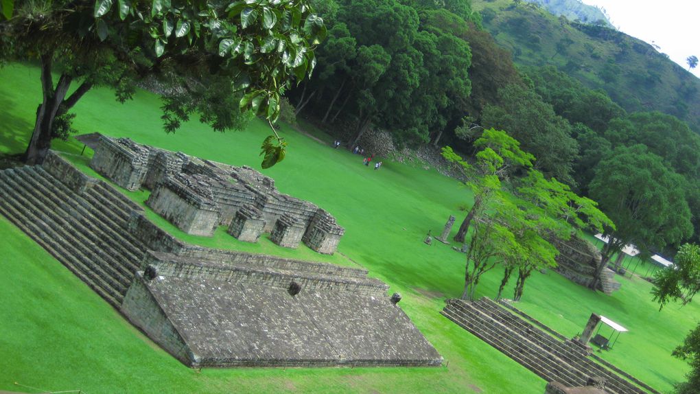
{"label": "bright green mown grass lawn surrounding the stone ruins", "polygon": [[[0,70],[0,153],[25,148],[41,96],[38,71],[9,65]],[[259,169],[259,146],[269,134],[262,122],[244,132],[216,133],[197,122],[176,134],[160,125],[157,97],[139,92],[118,104],[108,90],[95,90],[76,106],[76,127],[83,133],[129,136],[140,143],[181,150],[211,160]],[[300,391],[316,393],[542,393],[545,381],[443,318],[446,297],[458,297],[464,256],[443,244],[426,246],[428,230],[439,234],[449,215],[471,199],[453,179],[421,167],[384,160],[379,171],[361,157],[334,150],[283,127],[289,143],[286,160],[264,173],[281,192],[308,199],[336,216],[346,234],[337,255],[308,248],[288,251],[263,239],[239,243],[221,230],[203,239],[167,230],[190,242],[241,248],[295,258],[359,264],[386,281],[390,293],[402,293],[402,308],[445,358],[437,368],[260,368],[190,370],[132,328],[114,309],[59,262],[0,216],[0,390],[36,392],[83,390],[85,393],[228,393]],[[313,131],[313,133],[317,133]],[[318,135],[318,134],[315,134]],[[55,148],[85,168],[76,141]],[[128,194],[143,202],[145,192]],[[456,231],[456,227],[454,229]],[[341,255],[342,253],[342,255]],[[480,295],[495,295],[500,272],[484,276]],[[651,285],[622,279],[612,296],[591,293],[549,272],[533,276],[518,307],[564,335],[582,330],[591,312],[629,328],[615,349],[601,356],[660,391],[680,381],[687,365],[670,356],[700,316],[696,304],[659,312]],[[509,290],[510,291],[510,290]]]}

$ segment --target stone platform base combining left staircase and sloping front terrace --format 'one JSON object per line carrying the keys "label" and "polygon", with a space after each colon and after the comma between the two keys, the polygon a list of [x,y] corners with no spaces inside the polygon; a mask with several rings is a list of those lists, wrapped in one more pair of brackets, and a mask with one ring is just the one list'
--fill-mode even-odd
{"label": "stone platform base combining left staircase and sloping front terrace", "polygon": [[[134,151],[145,157],[147,150],[125,149]],[[179,154],[160,157],[186,162]],[[148,179],[148,171],[126,171],[126,163],[109,165],[123,169],[128,184]],[[197,174],[206,171],[186,173],[190,181]],[[274,190],[271,181],[260,188]],[[400,296],[389,297],[388,286],[365,269],[187,244],[109,183],[52,152],[41,166],[0,171],[0,193],[0,214],[188,366],[442,363],[398,307]]]}

